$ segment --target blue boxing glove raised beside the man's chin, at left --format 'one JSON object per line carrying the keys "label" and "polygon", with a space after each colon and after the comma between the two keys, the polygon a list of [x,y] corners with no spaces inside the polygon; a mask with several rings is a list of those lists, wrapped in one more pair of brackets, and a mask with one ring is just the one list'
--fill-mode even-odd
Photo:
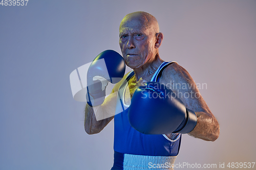
{"label": "blue boxing glove raised beside the man's chin, at left", "polygon": [[87,72],[87,103],[98,106],[104,102],[105,89],[109,82],[118,83],[124,76],[125,62],[123,57],[113,51],[100,53],[91,63]]}

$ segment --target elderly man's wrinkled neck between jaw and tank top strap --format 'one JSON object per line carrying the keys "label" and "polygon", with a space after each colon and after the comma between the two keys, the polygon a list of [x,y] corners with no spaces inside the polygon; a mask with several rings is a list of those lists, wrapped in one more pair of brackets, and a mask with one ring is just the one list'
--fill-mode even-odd
{"label": "elderly man's wrinkled neck between jaw and tank top strap", "polygon": [[139,81],[140,78],[147,82],[151,81],[156,70],[163,62],[164,61],[160,59],[160,57],[156,57],[155,60],[145,63],[139,68],[134,68],[137,81]]}

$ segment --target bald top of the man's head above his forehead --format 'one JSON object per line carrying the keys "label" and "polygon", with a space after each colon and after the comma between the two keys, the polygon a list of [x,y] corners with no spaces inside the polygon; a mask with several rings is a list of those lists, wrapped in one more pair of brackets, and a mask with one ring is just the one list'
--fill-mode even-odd
{"label": "bald top of the man's head above his forehead", "polygon": [[150,31],[153,34],[156,34],[159,32],[157,19],[153,15],[146,12],[142,12],[142,11],[127,14],[122,19],[119,30],[125,27],[126,23],[131,23],[134,21],[137,21],[135,24],[139,22],[141,26],[143,26],[145,29],[148,29],[148,31]]}

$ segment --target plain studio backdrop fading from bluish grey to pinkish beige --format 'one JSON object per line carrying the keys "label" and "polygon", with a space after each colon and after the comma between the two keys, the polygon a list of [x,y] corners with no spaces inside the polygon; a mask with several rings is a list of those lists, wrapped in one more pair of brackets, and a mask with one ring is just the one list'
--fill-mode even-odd
{"label": "plain studio backdrop fading from bluish grey to pinkish beige", "polygon": [[207,83],[221,126],[215,142],[183,135],[176,163],[256,161],[256,1],[29,0],[0,6],[0,169],[112,167],[114,124],[86,134],[69,75],[106,49],[120,53],[119,23],[135,11],[158,19],[161,58]]}

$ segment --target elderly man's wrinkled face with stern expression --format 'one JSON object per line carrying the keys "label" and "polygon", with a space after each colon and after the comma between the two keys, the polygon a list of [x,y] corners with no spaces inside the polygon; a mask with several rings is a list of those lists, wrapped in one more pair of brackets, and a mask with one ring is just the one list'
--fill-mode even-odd
{"label": "elderly man's wrinkled face with stern expression", "polygon": [[122,21],[119,29],[119,45],[126,65],[138,68],[155,57],[156,37],[141,18]]}

